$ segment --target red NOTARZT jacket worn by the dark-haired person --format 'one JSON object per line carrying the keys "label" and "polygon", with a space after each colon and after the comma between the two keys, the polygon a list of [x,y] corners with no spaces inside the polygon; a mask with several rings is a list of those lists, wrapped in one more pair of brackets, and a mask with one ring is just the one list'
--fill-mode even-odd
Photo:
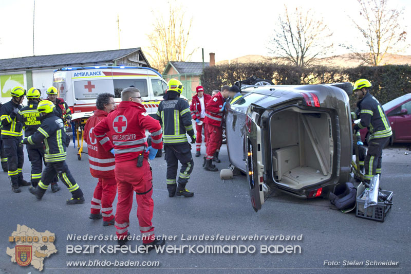
{"label": "red NOTARZT jacket worn by the dark-haired person", "polygon": [[[114,168],[116,167],[113,153],[104,150],[100,142],[94,136],[94,127],[108,115],[107,112],[97,109],[94,115],[87,119],[84,126],[84,141],[88,148],[88,162],[90,165],[91,176],[95,178],[115,177]],[[108,139],[113,142],[111,134],[107,133]]]}

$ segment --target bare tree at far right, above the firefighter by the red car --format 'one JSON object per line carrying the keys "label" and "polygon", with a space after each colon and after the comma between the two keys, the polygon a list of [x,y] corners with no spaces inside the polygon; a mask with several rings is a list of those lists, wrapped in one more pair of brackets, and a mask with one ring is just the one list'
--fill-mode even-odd
{"label": "bare tree at far right, above the firefighter by the red car", "polygon": [[[355,46],[348,48],[353,51],[354,58],[365,64],[378,66],[386,53],[398,53],[405,45],[406,31],[400,25],[403,9],[391,9],[388,0],[358,0],[360,4],[359,17],[351,18],[360,31],[360,40]],[[361,50],[358,45],[365,45]]]}

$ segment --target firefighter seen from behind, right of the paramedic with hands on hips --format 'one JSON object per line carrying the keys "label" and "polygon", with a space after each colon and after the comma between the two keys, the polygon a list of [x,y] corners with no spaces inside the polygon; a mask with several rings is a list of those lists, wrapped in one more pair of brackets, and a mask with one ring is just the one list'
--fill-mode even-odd
{"label": "firefighter seen from behind, right of the paramedic with hands on hips", "polygon": [[[166,178],[169,197],[174,197],[175,194],[184,197],[194,196],[193,192],[185,188],[194,167],[191,145],[185,133],[190,136],[191,143],[196,141],[196,136],[191,122],[189,104],[180,98],[182,91],[181,82],[174,78],[171,79],[167,84],[164,100],[160,102],[157,110],[157,120],[162,124],[164,131],[164,159],[167,162]],[[178,161],[181,163],[181,169],[177,187]]]}

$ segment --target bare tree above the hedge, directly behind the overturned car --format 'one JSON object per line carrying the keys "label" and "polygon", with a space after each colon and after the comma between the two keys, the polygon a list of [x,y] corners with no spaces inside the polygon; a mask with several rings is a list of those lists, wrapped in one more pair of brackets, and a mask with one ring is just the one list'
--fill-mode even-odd
{"label": "bare tree above the hedge, directly behind the overturned car", "polygon": [[284,8],[278,16],[274,37],[269,42],[270,53],[300,68],[330,53],[332,32],[321,17],[310,9],[302,11],[302,8],[296,8],[289,13],[286,5]]}

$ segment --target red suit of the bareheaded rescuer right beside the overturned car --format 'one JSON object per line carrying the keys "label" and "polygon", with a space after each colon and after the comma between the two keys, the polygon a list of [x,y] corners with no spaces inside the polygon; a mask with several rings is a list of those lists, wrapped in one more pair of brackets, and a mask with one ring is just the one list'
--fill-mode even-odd
{"label": "red suit of the bareheaded rescuer right beside the overturned car", "polygon": [[212,159],[214,153],[221,147],[222,141],[222,112],[220,111],[224,104],[224,98],[221,93],[214,95],[206,106],[206,118],[209,139],[207,145],[207,159]]}

